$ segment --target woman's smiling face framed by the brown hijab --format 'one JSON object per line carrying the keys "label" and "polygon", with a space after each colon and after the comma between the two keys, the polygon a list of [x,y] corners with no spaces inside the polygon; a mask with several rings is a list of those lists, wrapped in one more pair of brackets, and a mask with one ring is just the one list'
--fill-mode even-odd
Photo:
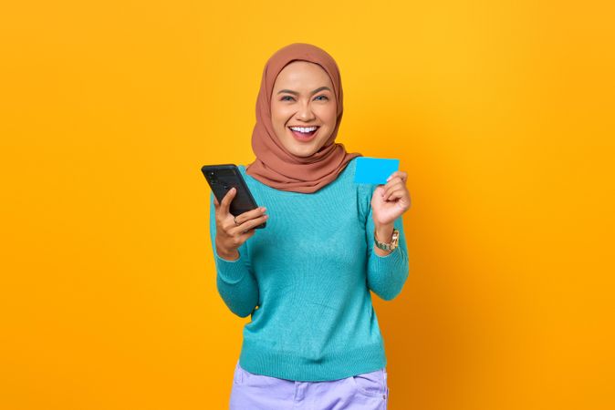
{"label": "woman's smiling face framed by the brown hijab", "polygon": [[337,106],[327,72],[318,64],[293,61],[280,71],[271,96],[277,138],[297,157],[309,157],[333,132]]}

